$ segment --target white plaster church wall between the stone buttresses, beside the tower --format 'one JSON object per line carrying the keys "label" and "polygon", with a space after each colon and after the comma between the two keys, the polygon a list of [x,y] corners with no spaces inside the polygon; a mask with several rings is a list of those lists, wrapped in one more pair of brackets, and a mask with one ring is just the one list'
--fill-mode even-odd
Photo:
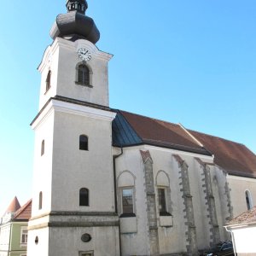
{"label": "white plaster church wall between the stone buttresses, beside the tower", "polygon": [[[160,227],[160,216],[157,210],[158,233],[160,243],[160,253],[180,253],[186,252],[186,235],[187,227],[184,222],[184,206],[183,198],[180,193],[181,180],[177,160],[172,157],[172,154],[179,154],[183,160],[189,165],[189,179],[190,190],[193,195],[194,211],[195,211],[195,225],[197,236],[199,236],[199,247],[206,247],[209,243],[209,235],[206,235],[207,230],[207,212],[205,206],[205,195],[202,194],[201,187],[201,171],[198,166],[195,166],[194,157],[199,157],[198,154],[182,153],[177,150],[156,148],[150,146],[141,146],[133,148],[125,148],[124,154],[117,159],[117,177],[119,173],[128,170],[136,177],[135,191],[136,191],[136,215],[137,215],[137,233],[122,235],[122,255],[147,255],[148,244],[148,219],[146,215],[147,203],[145,198],[145,179],[143,171],[143,160],[139,150],[149,150],[154,161],[154,183],[156,185],[156,176],[159,171],[164,171],[170,177],[171,200],[173,226]],[[211,162],[211,157],[201,158],[201,160]],[[156,207],[158,209],[157,201],[157,186],[155,186]],[[203,199],[203,201],[202,201]],[[120,204],[120,199],[119,199]],[[169,211],[169,209],[168,209]],[[144,245],[144,246],[142,246]]]}

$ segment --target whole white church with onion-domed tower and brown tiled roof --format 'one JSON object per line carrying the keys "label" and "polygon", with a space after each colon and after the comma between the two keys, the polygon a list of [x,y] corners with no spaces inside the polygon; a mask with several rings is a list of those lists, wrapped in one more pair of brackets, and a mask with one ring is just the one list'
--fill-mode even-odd
{"label": "whole white church with onion-domed tower and brown tiled roof", "polygon": [[256,155],[113,109],[85,0],[57,15],[41,73],[27,256],[199,255],[256,200]]}

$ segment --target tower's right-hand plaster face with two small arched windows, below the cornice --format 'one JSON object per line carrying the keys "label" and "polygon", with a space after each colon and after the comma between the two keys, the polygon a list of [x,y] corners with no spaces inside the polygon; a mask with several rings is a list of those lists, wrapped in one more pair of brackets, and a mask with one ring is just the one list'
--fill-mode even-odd
{"label": "tower's right-hand plaster face with two small arched windows, below the cornice", "polygon": [[[113,212],[111,122],[55,113],[52,210]],[[79,150],[79,136],[89,150]],[[90,206],[79,207],[79,189],[90,190]]]}

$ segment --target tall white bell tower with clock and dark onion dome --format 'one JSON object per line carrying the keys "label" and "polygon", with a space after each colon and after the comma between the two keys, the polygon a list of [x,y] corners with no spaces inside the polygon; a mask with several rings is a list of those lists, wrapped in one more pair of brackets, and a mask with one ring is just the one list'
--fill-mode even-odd
{"label": "tall white bell tower with clock and dark onion dome", "polygon": [[118,256],[108,61],[85,0],[68,0],[50,30],[35,131],[28,256]]}

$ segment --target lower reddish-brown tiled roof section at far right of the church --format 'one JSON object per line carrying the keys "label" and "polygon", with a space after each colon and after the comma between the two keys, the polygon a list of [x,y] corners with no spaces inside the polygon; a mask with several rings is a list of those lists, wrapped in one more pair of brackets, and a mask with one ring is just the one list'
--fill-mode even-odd
{"label": "lower reddish-brown tiled roof section at far right of the church", "polygon": [[256,177],[256,155],[241,143],[190,131],[207,150],[214,154],[214,163],[231,175]]}

